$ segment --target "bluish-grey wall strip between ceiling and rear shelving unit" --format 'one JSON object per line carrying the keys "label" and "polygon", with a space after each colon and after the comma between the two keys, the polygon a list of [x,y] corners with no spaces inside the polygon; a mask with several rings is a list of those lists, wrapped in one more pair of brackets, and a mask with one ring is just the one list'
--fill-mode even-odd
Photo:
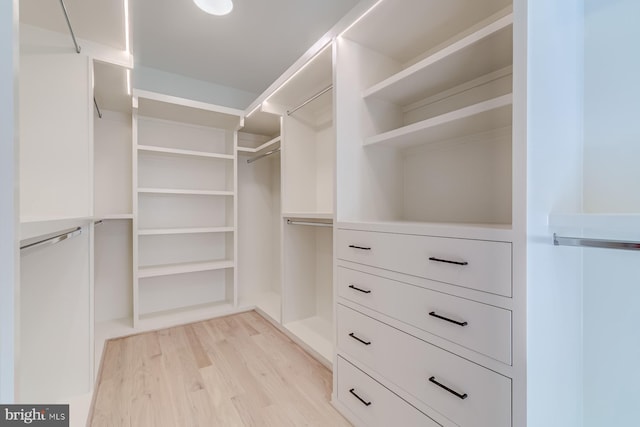
{"label": "bluish-grey wall strip between ceiling and rear shelving unit", "polygon": [[258,94],[196,80],[155,68],[136,65],[133,86],[166,95],[208,102],[231,108],[246,108]]}

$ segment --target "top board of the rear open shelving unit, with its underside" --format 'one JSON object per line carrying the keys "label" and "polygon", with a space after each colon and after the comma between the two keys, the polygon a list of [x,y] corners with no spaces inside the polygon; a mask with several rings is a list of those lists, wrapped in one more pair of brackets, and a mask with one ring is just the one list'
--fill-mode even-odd
{"label": "top board of the rear open shelving unit, with its underside", "polygon": [[145,117],[237,130],[244,111],[144,90],[133,90],[133,108]]}

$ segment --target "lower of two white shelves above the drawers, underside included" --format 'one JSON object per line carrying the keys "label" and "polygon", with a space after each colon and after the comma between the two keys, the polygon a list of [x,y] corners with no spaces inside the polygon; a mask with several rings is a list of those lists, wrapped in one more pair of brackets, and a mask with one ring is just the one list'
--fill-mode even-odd
{"label": "lower of two white shelves above the drawers, underside included", "polygon": [[512,95],[365,138],[365,146],[408,147],[500,129],[511,125]]}

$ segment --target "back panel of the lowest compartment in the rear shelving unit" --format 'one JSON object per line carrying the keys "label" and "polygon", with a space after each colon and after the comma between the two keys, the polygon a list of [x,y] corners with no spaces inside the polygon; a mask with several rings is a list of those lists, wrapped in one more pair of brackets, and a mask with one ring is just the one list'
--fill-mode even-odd
{"label": "back panel of the lowest compartment in the rear shelving unit", "polygon": [[225,270],[140,279],[140,314],[225,301]]}

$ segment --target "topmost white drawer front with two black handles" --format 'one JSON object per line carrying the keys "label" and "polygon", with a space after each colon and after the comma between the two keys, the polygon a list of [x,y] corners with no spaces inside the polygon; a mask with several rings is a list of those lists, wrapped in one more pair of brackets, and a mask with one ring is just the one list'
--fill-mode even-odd
{"label": "topmost white drawer front with two black handles", "polygon": [[511,296],[511,244],[410,234],[338,230],[346,261]]}

